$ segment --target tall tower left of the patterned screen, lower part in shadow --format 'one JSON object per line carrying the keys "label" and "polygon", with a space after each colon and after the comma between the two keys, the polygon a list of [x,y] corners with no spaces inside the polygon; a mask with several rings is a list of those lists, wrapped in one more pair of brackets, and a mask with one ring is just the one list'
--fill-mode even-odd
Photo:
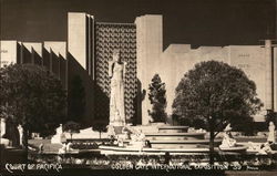
{"label": "tall tower left of the patterned screen, lower part in shadow", "polygon": [[[85,107],[83,117],[76,117],[82,124],[90,126],[94,116],[94,19],[86,13],[68,13],[68,90],[73,89],[73,80],[79,76],[85,90]],[[70,104],[73,102],[69,101]],[[72,112],[69,108],[69,115]]]}

